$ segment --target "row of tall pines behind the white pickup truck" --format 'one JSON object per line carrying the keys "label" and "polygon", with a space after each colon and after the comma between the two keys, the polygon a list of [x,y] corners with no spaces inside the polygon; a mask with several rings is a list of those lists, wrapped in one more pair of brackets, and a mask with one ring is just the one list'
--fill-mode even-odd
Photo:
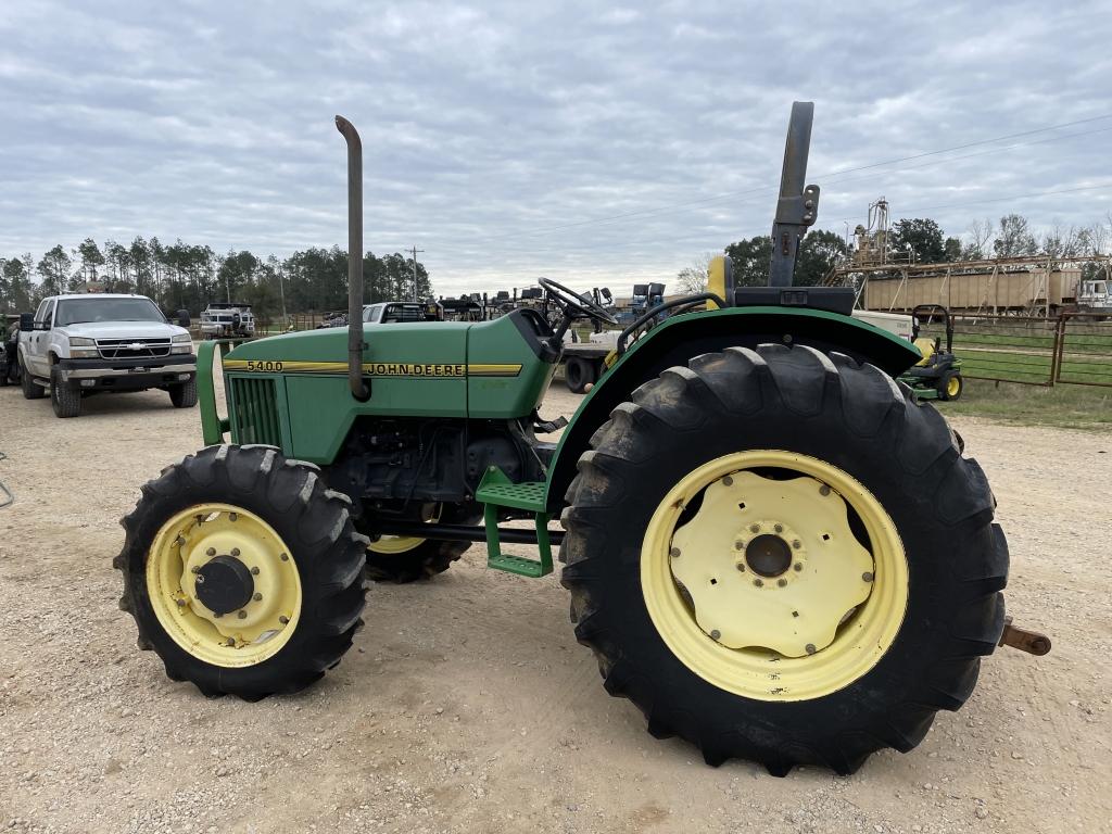
{"label": "row of tall pines behind the white pickup truck", "polygon": [[[405,255],[363,259],[364,301],[415,297],[414,259]],[[48,296],[83,292],[90,282],[106,292],[137,292],[162,310],[189,310],[197,316],[210,301],[240,301],[267,321],[286,315],[347,308],[348,257],[344,249],[310,247],[288,258],[259,257],[246,249],[217,254],[209,246],[166,245],[157,237],[137,237],[130,245],[86,238],[67,249],[54,246],[36,259],[31,252],[0,255],[0,312],[32,310]],[[416,264],[416,297],[428,298],[428,270]]]}

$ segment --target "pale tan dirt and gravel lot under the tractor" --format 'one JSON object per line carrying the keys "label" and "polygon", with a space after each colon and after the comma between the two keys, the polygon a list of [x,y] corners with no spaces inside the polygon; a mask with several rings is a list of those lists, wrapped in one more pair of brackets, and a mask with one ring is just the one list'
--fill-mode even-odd
{"label": "pale tan dirt and gravel lot under the tractor", "polygon": [[[557,384],[546,416],[578,398]],[[259,704],[166,679],[117,609],[117,519],[201,443],[158,391],[0,389],[0,826],[49,832],[1112,831],[1112,438],[957,420],[1012,548],[1010,609],[1054,651],[1001,651],[957,714],[851,778],[714,770],[603,691],[556,577],[376,586],[356,648]]]}

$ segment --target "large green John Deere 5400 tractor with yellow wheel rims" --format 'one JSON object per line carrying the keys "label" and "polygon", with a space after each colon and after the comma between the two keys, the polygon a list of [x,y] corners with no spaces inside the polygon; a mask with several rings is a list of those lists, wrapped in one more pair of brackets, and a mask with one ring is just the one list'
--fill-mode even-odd
{"label": "large green John Deere 5400 tractor with yellow wheel rims", "polygon": [[[486,542],[490,568],[542,577],[558,545],[607,692],[654,736],[776,775],[910,751],[1002,641],[1046,651],[1005,628],[984,473],[895,379],[919,351],[854,319],[852,289],[792,286],[811,117],[793,108],[768,286],[719,258],[711,291],[631,325],[558,444],[538,408],[564,332],[614,319],[556,281],[555,326],[526,307],[220,346],[227,417],[201,345],[206,447],[122,520],[139,647],[208,696],[294,693],[350,648],[366,576],[427,578]],[[361,145],[336,123],[358,321]]]}

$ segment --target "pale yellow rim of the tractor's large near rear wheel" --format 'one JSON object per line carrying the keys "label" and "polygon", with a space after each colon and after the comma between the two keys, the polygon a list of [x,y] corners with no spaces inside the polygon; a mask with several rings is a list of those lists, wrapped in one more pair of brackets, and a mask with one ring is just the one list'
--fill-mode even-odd
{"label": "pale yellow rim of the tractor's large near rear wheel", "polygon": [[907,584],[880,502],[842,469],[790,451],[699,466],[661,502],[642,545],[642,593],[668,648],[758,701],[823,697],[867,673],[900,631]]}

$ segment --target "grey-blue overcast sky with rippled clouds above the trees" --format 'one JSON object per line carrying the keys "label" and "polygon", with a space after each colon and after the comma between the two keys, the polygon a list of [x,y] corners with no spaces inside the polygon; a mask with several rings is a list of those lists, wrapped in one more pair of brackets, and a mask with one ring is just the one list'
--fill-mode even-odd
{"label": "grey-blue overcast sky with rippled clouds above the trees", "polygon": [[342,113],[367,248],[424,249],[437,291],[669,280],[767,231],[793,99],[820,228],[881,195],[947,234],[1088,225],[1112,210],[1110,29],[1106,1],[2,0],[0,257],[345,245]]}

